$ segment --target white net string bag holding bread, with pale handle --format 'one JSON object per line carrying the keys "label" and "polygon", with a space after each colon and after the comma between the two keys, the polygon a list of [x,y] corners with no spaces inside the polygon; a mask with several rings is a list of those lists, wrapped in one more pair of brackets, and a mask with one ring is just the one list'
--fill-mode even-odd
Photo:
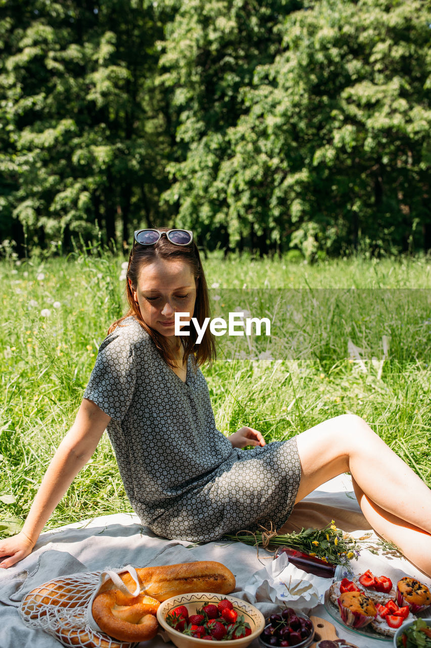
{"label": "white net string bag holding bread, with pale handle", "polygon": [[[118,572],[128,571],[137,584],[130,592]],[[93,599],[100,586],[112,579],[116,587],[127,596],[136,596],[139,582],[136,570],[127,566],[114,572],[75,573],[44,583],[27,594],[21,601],[19,614],[32,628],[43,629],[60,643],[80,648],[133,648],[137,643],[121,642],[100,630],[91,614]]]}

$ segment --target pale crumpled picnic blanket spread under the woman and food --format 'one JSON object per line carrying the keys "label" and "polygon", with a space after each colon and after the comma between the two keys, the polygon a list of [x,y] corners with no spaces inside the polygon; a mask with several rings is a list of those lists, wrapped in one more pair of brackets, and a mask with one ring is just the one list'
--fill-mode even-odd
{"label": "pale crumpled picnic blanket spread under the woman and food", "polygon": [[[314,526],[323,527],[335,518],[340,528],[344,528],[342,521],[345,520],[348,527],[345,530],[355,529],[355,537],[366,533],[366,521],[360,514],[348,476],[327,482],[305,498],[289,518],[286,530],[310,526],[311,513],[315,513],[318,520]],[[296,581],[308,581],[302,587],[304,596],[297,597],[302,609],[334,623],[338,636],[359,648],[390,645],[390,642],[347,631],[341,623],[334,621],[323,604],[324,591],[331,584],[329,579],[318,579],[291,564],[286,566],[278,562],[280,559],[273,561],[269,551],[260,549],[257,555],[256,548],[239,542],[219,541],[196,545],[159,538],[148,528],[142,527],[137,516],[122,514],[85,520],[43,533],[26,559],[8,570],[0,570],[0,648],[60,647],[61,644],[44,631],[28,629],[18,613],[21,599],[46,581],[71,573],[120,568],[127,564],[143,567],[199,560],[215,560],[225,564],[236,576],[236,590],[232,595],[254,603],[265,616],[280,604],[276,600],[274,602],[274,592],[282,591],[280,580],[291,586],[292,596],[298,593]],[[384,574],[393,579],[408,574],[431,586],[431,580],[405,559],[373,555],[364,549],[359,560],[351,564],[356,573],[371,569],[376,575]],[[281,575],[279,572],[282,572]],[[286,600],[289,600],[289,596]],[[147,647],[149,643],[140,646]],[[166,648],[166,644],[157,636],[151,642],[151,648]],[[252,648],[258,648],[257,640]]]}

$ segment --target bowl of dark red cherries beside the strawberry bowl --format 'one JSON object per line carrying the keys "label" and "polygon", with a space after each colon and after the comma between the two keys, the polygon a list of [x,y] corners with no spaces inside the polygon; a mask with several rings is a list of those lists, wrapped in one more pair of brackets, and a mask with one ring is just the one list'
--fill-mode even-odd
{"label": "bowl of dark red cherries beside the strawberry bowl", "polygon": [[265,619],[265,627],[259,636],[262,648],[307,648],[313,643],[315,627],[302,612],[286,607],[278,614]]}

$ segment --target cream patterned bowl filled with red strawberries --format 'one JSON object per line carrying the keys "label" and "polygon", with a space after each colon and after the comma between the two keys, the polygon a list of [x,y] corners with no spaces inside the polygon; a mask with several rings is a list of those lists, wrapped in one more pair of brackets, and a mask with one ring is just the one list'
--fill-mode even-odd
{"label": "cream patterned bowl filled with red strawberries", "polygon": [[224,648],[245,648],[258,637],[265,619],[258,608],[225,594],[179,594],[160,604],[157,620],[177,648],[223,641]]}

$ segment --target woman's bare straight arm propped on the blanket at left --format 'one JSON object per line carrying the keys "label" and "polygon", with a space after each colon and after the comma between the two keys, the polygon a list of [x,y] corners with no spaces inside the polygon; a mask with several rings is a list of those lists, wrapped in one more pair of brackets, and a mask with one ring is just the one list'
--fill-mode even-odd
{"label": "woman's bare straight arm propped on the blanket at left", "polygon": [[111,420],[92,400],[83,399],[71,429],[52,457],[22,530],[0,540],[0,567],[7,568],[31,553],[39,534],[75,476],[93,455]]}

